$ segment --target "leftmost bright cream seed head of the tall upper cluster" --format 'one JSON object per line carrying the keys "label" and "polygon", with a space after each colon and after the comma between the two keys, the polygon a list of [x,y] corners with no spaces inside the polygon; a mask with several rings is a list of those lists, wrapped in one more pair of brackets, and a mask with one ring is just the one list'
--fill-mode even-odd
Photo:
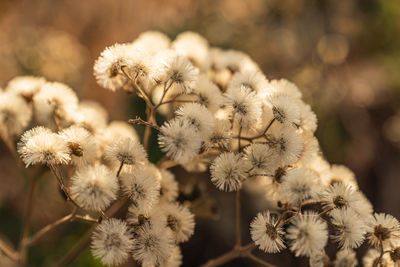
{"label": "leftmost bright cream seed head of the tall upper cluster", "polygon": [[115,44],[106,47],[94,63],[94,76],[97,83],[111,91],[123,88],[129,82],[128,77],[123,73],[123,68],[129,69],[131,64],[132,59],[128,55],[126,45]]}

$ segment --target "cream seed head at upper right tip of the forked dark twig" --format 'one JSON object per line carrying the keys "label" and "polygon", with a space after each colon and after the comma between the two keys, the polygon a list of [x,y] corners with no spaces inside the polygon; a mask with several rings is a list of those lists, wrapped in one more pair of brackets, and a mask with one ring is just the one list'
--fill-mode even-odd
{"label": "cream seed head at upper right tip of the forked dark twig", "polygon": [[275,120],[288,126],[300,123],[300,106],[296,99],[287,95],[277,95],[269,98],[269,104]]}

